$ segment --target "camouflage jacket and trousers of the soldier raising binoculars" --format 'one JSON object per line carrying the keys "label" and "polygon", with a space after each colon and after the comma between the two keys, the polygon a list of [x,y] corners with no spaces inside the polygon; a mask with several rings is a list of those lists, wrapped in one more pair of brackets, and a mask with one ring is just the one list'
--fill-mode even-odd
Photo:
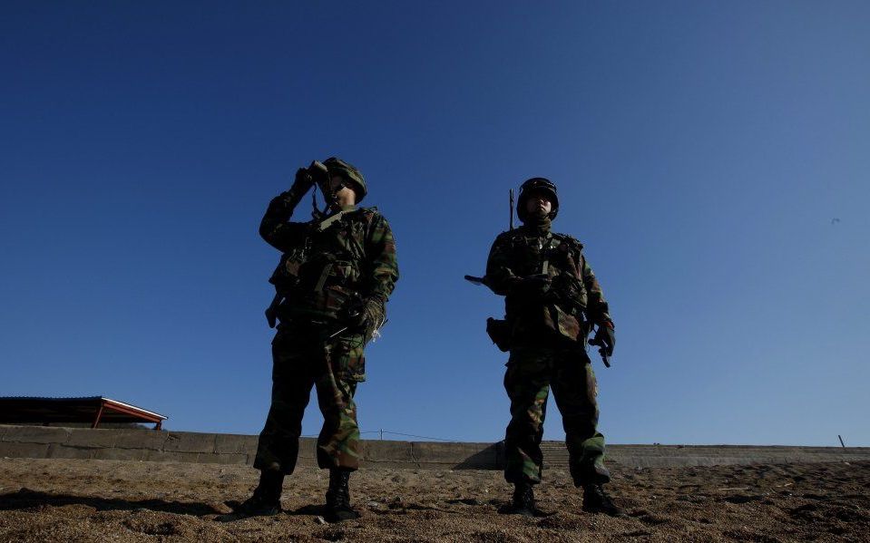
{"label": "camouflage jacket and trousers of the soldier raising binoculars", "polygon": [[[349,305],[360,303],[380,323],[398,279],[396,244],[376,208],[342,208],[327,221],[290,222],[304,192],[272,199],[260,235],[283,253],[271,282],[283,301],[272,341],[272,402],[259,435],[254,467],[292,473],[302,414],[311,386],[324,416],[318,465],[356,470],[359,429],[354,393],[366,380],[363,349],[372,329],[347,326]],[[330,222],[331,221],[331,222]]]}

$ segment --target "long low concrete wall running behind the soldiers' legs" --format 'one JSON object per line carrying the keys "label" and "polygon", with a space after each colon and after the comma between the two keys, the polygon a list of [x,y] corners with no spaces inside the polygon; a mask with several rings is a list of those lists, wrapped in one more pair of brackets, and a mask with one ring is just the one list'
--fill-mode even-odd
{"label": "long low concrete wall running behind the soldiers' legs", "polygon": [[[364,467],[501,470],[502,443],[364,441]],[[542,445],[547,466],[565,468],[557,441]],[[302,438],[299,465],[317,465],[316,441]],[[189,431],[91,430],[0,425],[0,457],[252,464],[257,436]],[[870,448],[740,445],[611,445],[610,461],[630,467],[870,460]]]}

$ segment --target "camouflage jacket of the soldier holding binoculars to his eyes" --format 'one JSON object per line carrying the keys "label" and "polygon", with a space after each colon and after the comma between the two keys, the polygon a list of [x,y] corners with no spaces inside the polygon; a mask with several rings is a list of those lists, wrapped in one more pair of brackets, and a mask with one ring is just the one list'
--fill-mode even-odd
{"label": "camouflage jacket of the soldier holding binoculars to his eyes", "polygon": [[349,206],[324,221],[291,222],[302,195],[269,202],[259,235],[283,253],[269,281],[283,301],[279,318],[337,319],[348,306],[384,305],[398,280],[396,242],[376,208]]}

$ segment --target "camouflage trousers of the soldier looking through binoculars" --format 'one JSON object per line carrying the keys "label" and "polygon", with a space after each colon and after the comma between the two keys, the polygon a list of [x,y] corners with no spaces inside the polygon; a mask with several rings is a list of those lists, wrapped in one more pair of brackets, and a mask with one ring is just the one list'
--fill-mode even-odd
{"label": "camouflage trousers of the soldier looking through binoculars", "polygon": [[363,335],[328,338],[337,326],[279,325],[272,341],[272,403],[259,434],[254,468],[290,474],[296,468],[302,414],[317,387],[323,428],[318,466],[357,470],[359,427],[354,393],[366,380]]}

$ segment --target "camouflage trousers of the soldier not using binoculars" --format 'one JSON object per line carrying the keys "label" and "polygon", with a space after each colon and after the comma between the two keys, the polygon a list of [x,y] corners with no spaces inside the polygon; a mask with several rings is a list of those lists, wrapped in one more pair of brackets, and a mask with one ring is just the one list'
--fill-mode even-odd
{"label": "camouflage trousers of the soldier not using binoculars", "polygon": [[543,421],[552,388],[562,413],[574,484],[579,487],[610,480],[604,467],[604,436],[597,429],[598,385],[582,348],[514,347],[504,388],[511,399],[511,422],[504,436],[504,479],[510,483],[541,482]]}

